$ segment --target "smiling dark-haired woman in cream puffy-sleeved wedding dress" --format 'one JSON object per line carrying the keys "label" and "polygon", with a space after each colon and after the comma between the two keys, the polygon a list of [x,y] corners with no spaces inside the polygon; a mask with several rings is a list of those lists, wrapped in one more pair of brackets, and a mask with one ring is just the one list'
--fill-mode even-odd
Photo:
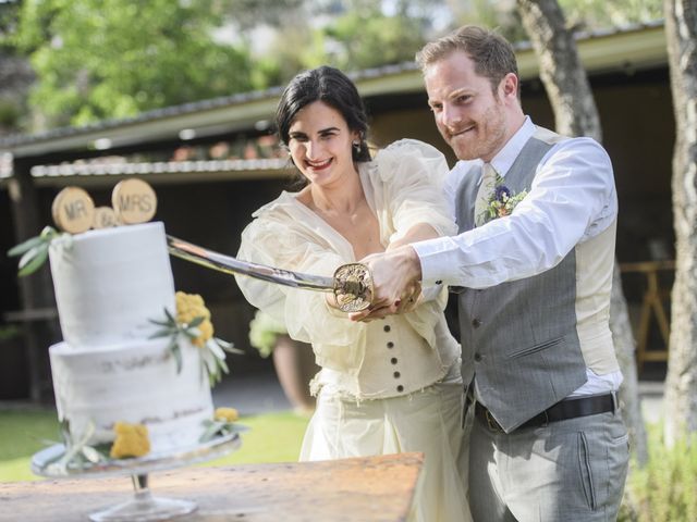
{"label": "smiling dark-haired woman in cream puffy-sleeved wedding dress", "polygon": [[[340,71],[322,66],[291,80],[277,125],[307,184],[253,214],[240,259],[332,275],[370,253],[455,233],[441,195],[443,156],[400,140],[371,159],[366,120],[355,86]],[[311,344],[321,366],[310,383],[317,409],[301,460],[421,451],[409,520],[470,520],[461,474],[467,447],[460,346],[443,315],[447,290],[413,286],[400,314],[352,322],[330,294],[248,277],[237,283],[291,337]]]}

